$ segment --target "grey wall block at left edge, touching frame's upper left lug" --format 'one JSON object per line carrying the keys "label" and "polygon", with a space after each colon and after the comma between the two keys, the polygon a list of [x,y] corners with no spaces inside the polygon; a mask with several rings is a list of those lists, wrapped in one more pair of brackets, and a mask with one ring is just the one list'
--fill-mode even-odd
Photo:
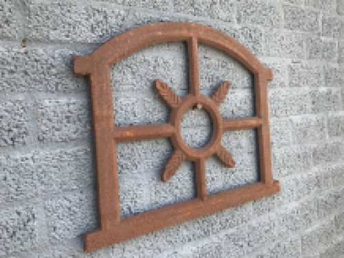
{"label": "grey wall block at left edge, touching frame's upper left lug", "polygon": [[56,48],[0,47],[0,91],[76,92],[85,91],[85,78],[74,76],[72,54],[79,51]]}

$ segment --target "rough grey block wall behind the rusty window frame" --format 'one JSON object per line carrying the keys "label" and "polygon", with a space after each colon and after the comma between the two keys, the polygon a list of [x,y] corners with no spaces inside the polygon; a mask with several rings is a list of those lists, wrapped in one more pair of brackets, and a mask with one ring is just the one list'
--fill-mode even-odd
{"label": "rough grey block wall behind the rusty window frame", "polygon": [[[83,252],[97,228],[89,92],[72,54],[90,54],[137,26],[193,21],[233,36],[268,67],[273,174],[281,193],[178,226]],[[22,39],[27,46],[21,47]],[[184,43],[149,47],[111,68],[116,125],[166,122],[153,92],[164,80],[187,94]],[[1,257],[343,257],[344,1],[0,0]],[[255,114],[252,75],[200,45],[202,93],[230,80],[224,117]],[[202,111],[182,121],[186,142],[204,144]],[[254,130],[224,134],[237,160],[206,163],[208,192],[257,178]],[[167,139],[118,144],[123,217],[195,195],[193,164],[160,182]]]}

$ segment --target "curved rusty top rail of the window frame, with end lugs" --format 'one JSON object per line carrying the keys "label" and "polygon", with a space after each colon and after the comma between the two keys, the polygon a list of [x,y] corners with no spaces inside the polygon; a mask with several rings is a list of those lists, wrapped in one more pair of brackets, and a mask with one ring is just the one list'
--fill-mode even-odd
{"label": "curved rusty top rail of the window frame, with end lugs", "polygon": [[205,25],[174,21],[153,23],[129,30],[107,41],[89,56],[74,56],[74,73],[92,74],[94,66],[111,66],[144,47],[191,39],[226,52],[242,63],[252,74],[264,74],[267,80],[272,80],[270,69],[266,69],[250,50],[231,36]]}

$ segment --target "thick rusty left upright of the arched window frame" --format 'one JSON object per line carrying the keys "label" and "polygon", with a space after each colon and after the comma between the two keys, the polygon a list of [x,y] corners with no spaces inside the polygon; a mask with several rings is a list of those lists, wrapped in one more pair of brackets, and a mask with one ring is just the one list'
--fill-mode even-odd
{"label": "thick rusty left upright of the arched window frame", "polygon": [[113,139],[114,105],[108,65],[94,64],[89,82],[96,152],[98,220],[101,230],[107,230],[120,222],[116,142]]}

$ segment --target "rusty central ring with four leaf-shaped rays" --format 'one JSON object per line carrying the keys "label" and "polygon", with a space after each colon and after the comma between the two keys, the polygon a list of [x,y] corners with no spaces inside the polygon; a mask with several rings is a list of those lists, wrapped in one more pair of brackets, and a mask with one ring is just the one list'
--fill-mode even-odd
{"label": "rusty central ring with four leaf-shaped rays", "polygon": [[[171,155],[171,158],[164,166],[164,171],[162,172],[161,177],[162,181],[166,182],[169,180],[175,174],[180,164],[182,164],[184,160],[191,160],[196,163],[196,177],[202,179],[201,181],[204,183],[205,160],[209,156],[215,154],[225,166],[230,168],[235,166],[235,161],[233,160],[232,155],[230,155],[230,153],[221,144],[224,122],[218,109],[219,105],[222,103],[222,101],[224,101],[224,98],[226,98],[229,87],[230,83],[225,81],[217,87],[214,94],[210,98],[202,94],[188,94],[183,98],[180,98],[166,83],[162,83],[161,80],[154,81],[155,91],[172,109],[169,123],[175,128],[175,133],[173,133],[171,136],[171,141],[175,150]],[[189,147],[189,145],[187,145],[182,139],[180,132],[180,121],[182,116],[185,111],[191,107],[206,109],[213,120],[213,135],[206,146],[202,148],[195,149]],[[206,191],[206,189],[202,189],[202,191]],[[202,193],[202,197],[204,198],[205,196],[206,193]]]}

